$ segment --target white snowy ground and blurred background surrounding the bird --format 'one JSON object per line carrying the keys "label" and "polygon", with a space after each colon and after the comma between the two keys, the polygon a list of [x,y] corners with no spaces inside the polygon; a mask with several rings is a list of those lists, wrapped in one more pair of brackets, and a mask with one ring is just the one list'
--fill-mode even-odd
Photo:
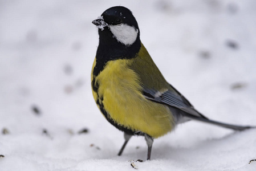
{"label": "white snowy ground and blurred background surrounding the bird", "polygon": [[[90,73],[104,10],[133,11],[166,80],[210,119],[256,125],[255,0],[0,0],[0,170],[256,170],[256,130],[190,121],[117,156]],[[84,133],[79,131],[86,129]]]}

